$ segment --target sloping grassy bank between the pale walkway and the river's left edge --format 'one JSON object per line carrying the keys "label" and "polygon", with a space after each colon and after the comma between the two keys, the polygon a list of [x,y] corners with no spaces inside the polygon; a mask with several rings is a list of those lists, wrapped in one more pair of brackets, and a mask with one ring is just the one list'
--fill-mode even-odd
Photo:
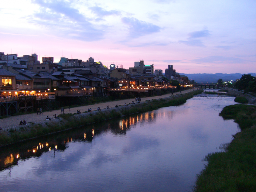
{"label": "sloping grassy bank between the pale walkway and the river's left edge", "polygon": [[196,90],[190,93],[150,101],[146,100],[141,103],[129,104],[128,106],[122,105],[117,108],[103,109],[101,111],[81,111],[81,114],[75,115],[68,113],[61,115],[60,119],[52,119],[51,121],[44,121],[42,123],[31,123],[27,126],[12,127],[4,131],[2,130],[0,135],[0,146],[105,121],[115,117],[146,112],[161,107],[180,105],[185,103],[187,99],[192,98],[193,95],[201,92],[202,90]]}

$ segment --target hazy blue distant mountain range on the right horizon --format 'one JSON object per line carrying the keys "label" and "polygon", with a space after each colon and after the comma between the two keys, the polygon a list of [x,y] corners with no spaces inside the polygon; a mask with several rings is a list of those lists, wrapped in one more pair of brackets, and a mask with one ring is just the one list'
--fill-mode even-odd
{"label": "hazy blue distant mountain range on the right horizon", "polygon": [[[248,73],[252,76],[256,76],[256,73]],[[242,73],[195,73],[195,74],[186,74],[180,73],[180,75],[185,75],[189,80],[195,80],[196,83],[216,83],[218,79],[222,79],[223,82],[240,79],[242,77]]]}

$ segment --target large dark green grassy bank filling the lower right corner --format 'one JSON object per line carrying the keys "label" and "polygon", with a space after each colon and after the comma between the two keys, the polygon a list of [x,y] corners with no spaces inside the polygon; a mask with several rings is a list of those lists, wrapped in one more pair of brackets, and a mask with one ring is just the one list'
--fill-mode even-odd
{"label": "large dark green grassy bank filling the lower right corner", "polygon": [[224,119],[234,119],[241,132],[223,152],[208,154],[208,165],[198,175],[195,192],[256,191],[256,107],[231,105],[221,113]]}

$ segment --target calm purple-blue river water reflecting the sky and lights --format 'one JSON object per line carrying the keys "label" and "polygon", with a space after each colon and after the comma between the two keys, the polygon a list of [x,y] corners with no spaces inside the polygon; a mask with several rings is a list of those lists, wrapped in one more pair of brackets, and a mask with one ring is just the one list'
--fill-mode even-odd
{"label": "calm purple-blue river water reflecting the sky and lights", "polygon": [[204,156],[239,131],[218,115],[232,104],[232,97],[194,97],[0,148],[0,191],[191,191]]}

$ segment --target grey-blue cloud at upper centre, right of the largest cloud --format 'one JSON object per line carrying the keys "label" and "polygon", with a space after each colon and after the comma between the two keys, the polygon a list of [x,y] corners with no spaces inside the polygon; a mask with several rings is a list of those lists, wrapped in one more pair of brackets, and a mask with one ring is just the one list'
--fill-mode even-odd
{"label": "grey-blue cloud at upper centre, right of the largest cloud", "polygon": [[160,27],[136,18],[123,17],[122,22],[128,25],[130,37],[136,38],[160,31]]}

